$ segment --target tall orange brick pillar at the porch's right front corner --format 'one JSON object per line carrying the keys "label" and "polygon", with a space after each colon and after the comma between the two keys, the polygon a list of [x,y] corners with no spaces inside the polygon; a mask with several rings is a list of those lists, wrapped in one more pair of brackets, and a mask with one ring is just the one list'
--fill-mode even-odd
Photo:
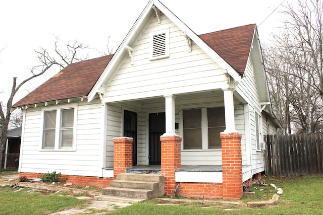
{"label": "tall orange brick pillar at the porch's right front corner", "polygon": [[223,199],[240,199],[243,195],[241,133],[221,132]]}

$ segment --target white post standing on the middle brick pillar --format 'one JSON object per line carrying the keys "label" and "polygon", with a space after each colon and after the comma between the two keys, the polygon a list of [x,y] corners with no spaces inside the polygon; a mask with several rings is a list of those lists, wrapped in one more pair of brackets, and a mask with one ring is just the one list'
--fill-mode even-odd
{"label": "white post standing on the middle brick pillar", "polygon": [[166,95],[165,97],[165,120],[166,120],[166,132],[164,135],[176,135],[175,134],[175,96]]}

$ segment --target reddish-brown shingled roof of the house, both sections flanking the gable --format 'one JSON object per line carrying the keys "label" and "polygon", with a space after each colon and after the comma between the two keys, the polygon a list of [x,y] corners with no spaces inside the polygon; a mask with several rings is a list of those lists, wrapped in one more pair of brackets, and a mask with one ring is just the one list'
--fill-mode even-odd
{"label": "reddish-brown shingled roof of the house, both sections flanking the gable", "polygon": [[[214,51],[243,75],[256,25],[199,35]],[[73,63],[61,70],[13,107],[87,96],[113,55]]]}

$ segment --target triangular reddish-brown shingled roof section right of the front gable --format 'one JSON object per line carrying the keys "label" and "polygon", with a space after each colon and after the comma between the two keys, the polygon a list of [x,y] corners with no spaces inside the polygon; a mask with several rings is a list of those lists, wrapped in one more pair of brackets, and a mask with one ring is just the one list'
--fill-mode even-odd
{"label": "triangular reddish-brown shingled roof section right of the front gable", "polygon": [[255,24],[199,35],[214,51],[243,75],[253,40]]}

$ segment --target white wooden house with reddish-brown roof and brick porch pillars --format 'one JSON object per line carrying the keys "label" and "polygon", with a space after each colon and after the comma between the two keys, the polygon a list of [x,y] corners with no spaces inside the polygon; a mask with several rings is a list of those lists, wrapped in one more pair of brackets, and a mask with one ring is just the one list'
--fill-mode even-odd
{"label": "white wooden house with reddish-brown roof and brick porch pillars", "polygon": [[[256,25],[196,35],[156,0],[114,55],[67,66],[14,107],[21,175],[57,171],[102,187],[132,166],[161,165],[166,194],[181,182],[191,197],[240,198],[277,128]],[[130,164],[115,147],[132,141],[124,136]]]}

